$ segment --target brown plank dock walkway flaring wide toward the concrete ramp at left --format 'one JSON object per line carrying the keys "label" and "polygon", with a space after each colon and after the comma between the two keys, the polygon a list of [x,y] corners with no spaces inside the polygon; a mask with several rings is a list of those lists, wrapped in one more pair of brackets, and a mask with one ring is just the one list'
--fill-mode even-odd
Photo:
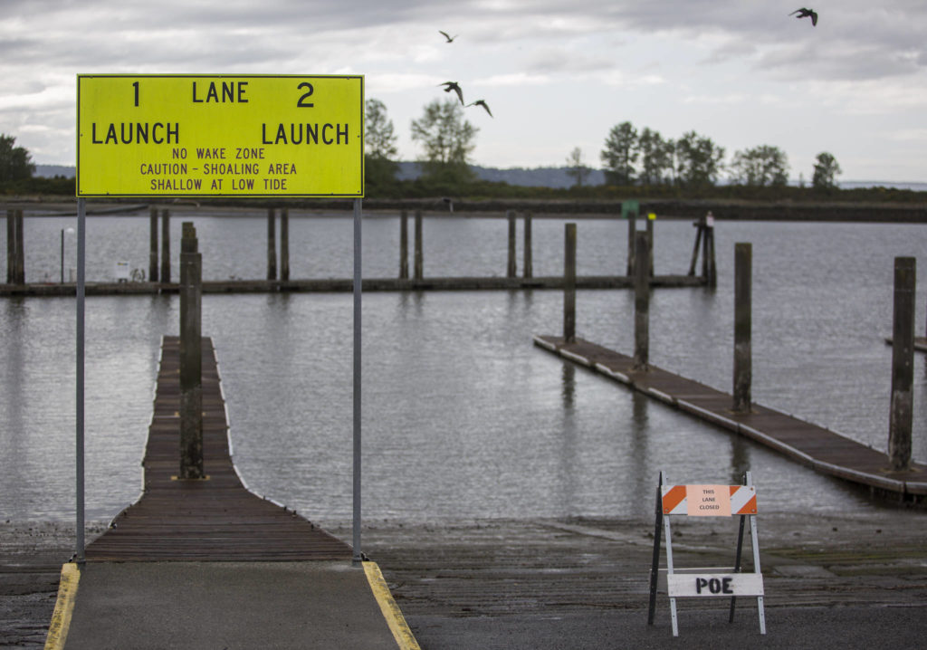
{"label": "brown plank dock walkway flaring wide toward the concrete ramp at left", "polygon": [[203,338],[203,456],[207,480],[180,468],[180,339],[165,337],[148,430],[144,491],[87,545],[88,562],[350,560],[349,544],[248,491],[229,450],[222,385]]}

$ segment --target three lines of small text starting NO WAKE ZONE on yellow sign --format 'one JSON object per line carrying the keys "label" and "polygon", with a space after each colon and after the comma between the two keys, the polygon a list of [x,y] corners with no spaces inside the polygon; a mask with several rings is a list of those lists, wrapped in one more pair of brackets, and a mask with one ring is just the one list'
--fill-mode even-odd
{"label": "three lines of small text starting NO WAKE ZONE on yellow sign", "polygon": [[[226,159],[226,151],[230,151],[230,158],[242,161],[210,161]],[[174,159],[186,159],[188,155],[183,147],[175,147],[171,153]],[[262,147],[197,147],[195,155],[199,160],[196,163],[143,162],[138,172],[148,177],[152,190],[159,191],[195,191],[204,187],[218,191],[286,190],[287,177],[298,173],[296,163],[264,161]],[[206,178],[191,178],[191,173]],[[256,178],[260,175],[264,177]]]}

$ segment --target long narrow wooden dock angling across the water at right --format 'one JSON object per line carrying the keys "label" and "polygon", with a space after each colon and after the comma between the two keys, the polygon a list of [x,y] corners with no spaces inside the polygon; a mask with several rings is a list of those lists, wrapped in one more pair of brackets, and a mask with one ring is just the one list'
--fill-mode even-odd
{"label": "long narrow wooden dock angling across the water at right", "polygon": [[909,472],[890,471],[888,456],[883,452],[756,403],[749,414],[734,413],[731,411],[733,397],[729,393],[654,365],[647,371],[635,371],[632,357],[580,338],[565,343],[563,338],[536,336],[534,341],[541,348],[588,366],[681,411],[756,440],[821,473],[897,494],[908,501],[925,501],[925,465],[912,464]]}

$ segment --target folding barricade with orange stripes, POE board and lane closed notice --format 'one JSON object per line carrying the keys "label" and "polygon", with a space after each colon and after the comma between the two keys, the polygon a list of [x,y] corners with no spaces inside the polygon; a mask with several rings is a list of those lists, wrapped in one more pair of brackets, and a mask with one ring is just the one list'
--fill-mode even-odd
{"label": "folding barricade with orange stripes, POE board and lane closed notice", "polygon": [[[654,562],[650,570],[650,606],[647,623],[654,624],[656,611],[657,578],[660,572],[660,538],[667,538],[667,595],[673,624],[673,636],[679,636],[676,614],[677,598],[730,597],[729,622],[734,620],[737,596],[756,597],[759,616],[759,633],[766,634],[766,616],[763,609],[763,574],[759,564],[759,541],[756,535],[756,486],[750,472],[743,476],[743,485],[672,485],[665,472],[660,472],[656,489],[656,522],[654,525]],[[672,516],[740,516],[737,551],[734,566],[685,567],[673,566]],[[743,527],[750,529],[753,547],[753,572],[741,571],[743,554]]]}

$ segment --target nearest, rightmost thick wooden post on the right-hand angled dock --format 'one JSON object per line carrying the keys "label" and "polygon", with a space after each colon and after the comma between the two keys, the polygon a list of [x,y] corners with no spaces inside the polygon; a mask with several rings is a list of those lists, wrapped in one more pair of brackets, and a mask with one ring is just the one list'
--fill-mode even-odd
{"label": "nearest, rightmost thick wooden post on the right-hand angled dock", "polygon": [[894,471],[907,471],[911,465],[916,278],[914,258],[896,257],[895,318],[892,328],[892,411],[888,427],[888,456]]}

